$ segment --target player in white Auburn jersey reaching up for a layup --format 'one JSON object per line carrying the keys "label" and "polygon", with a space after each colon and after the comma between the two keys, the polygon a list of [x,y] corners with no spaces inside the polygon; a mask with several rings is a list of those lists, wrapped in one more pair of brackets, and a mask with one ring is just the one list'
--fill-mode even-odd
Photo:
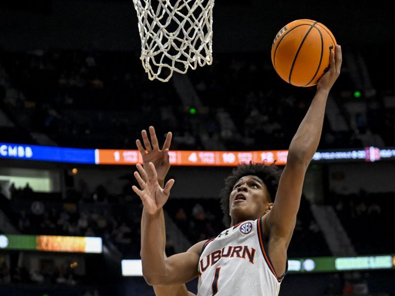
{"label": "player in white Auburn jersey reaching up for a layup", "polygon": [[[133,186],[133,190],[144,205],[141,258],[148,284],[182,285],[198,277],[197,296],[278,295],[287,271],[286,252],[305,173],[319,143],[327,97],[341,64],[341,48],[336,45],[330,53],[330,68],[318,81],[316,95],[291,141],[278,186],[274,166],[239,166],[224,189],[229,192],[226,204],[230,228],[217,237],[198,242],[187,252],[169,258],[163,252],[162,207],[174,180],[162,188],[152,162],[146,168],[137,165],[139,172],[134,176],[141,189]],[[223,208],[227,206],[223,204]]]}

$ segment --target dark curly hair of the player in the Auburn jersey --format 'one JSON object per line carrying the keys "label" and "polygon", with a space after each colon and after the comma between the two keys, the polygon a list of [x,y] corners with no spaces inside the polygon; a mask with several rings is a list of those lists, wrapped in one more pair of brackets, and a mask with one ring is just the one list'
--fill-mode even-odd
{"label": "dark curly hair of the player in the Auburn jersey", "polygon": [[235,186],[236,182],[244,176],[257,176],[266,185],[269,191],[269,202],[274,201],[276,197],[276,191],[278,188],[278,182],[280,180],[282,170],[280,170],[275,164],[266,165],[263,163],[242,163],[233,169],[232,174],[225,179],[225,187],[221,190],[221,209],[224,213],[223,222],[228,227],[231,224],[229,217],[229,196]]}

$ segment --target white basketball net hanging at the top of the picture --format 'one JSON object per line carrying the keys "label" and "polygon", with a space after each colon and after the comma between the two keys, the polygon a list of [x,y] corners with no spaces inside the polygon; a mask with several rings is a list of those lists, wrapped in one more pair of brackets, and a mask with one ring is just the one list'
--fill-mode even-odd
{"label": "white basketball net hanging at the top of the picture", "polygon": [[212,63],[214,0],[133,0],[141,61],[150,80]]}

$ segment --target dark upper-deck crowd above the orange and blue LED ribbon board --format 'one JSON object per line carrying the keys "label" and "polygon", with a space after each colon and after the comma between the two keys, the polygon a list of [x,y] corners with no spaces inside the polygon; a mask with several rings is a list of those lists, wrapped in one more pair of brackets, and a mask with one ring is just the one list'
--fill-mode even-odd
{"label": "dark upper-deck crowd above the orange and blue LED ribbon board", "polygon": [[[345,64],[332,89],[319,148],[395,146],[394,91],[378,85],[356,99],[350,72]],[[148,80],[136,54],[2,53],[0,110],[19,131],[4,141],[34,143],[42,133],[51,145],[134,148],[154,125],[173,132],[172,149],[286,149],[315,94],[282,81],[259,53],[217,54],[187,79],[197,98]]]}

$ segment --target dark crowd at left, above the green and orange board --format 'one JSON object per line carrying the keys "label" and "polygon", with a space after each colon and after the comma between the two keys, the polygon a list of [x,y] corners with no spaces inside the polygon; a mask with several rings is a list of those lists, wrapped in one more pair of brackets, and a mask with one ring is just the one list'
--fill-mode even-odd
{"label": "dark crowd at left, above the green and orange board", "polygon": [[62,198],[34,192],[29,184],[12,184],[10,189],[11,199],[2,197],[1,208],[21,233],[97,236],[118,246],[125,256],[139,256],[142,206],[131,192],[112,195],[99,185],[90,193],[69,189]]}

